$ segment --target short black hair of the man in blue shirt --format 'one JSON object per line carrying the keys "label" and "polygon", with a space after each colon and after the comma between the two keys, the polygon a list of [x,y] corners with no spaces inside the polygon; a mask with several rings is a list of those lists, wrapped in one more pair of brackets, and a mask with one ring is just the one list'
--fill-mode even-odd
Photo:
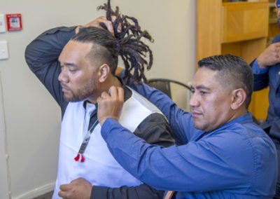
{"label": "short black hair of the man in blue shirt", "polygon": [[214,55],[200,60],[198,67],[218,71],[216,78],[222,85],[229,85],[234,89],[244,89],[247,95],[245,106],[248,109],[253,93],[253,72],[251,67],[241,57],[235,55]]}

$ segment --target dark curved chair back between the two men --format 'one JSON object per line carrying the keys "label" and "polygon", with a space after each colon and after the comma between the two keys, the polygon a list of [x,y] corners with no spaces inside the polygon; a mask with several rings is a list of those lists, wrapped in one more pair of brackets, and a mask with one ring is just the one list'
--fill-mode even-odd
{"label": "dark curved chair back between the two men", "polygon": [[168,78],[151,78],[147,83],[164,92],[173,99],[179,107],[189,111],[188,100],[191,96],[190,86]]}

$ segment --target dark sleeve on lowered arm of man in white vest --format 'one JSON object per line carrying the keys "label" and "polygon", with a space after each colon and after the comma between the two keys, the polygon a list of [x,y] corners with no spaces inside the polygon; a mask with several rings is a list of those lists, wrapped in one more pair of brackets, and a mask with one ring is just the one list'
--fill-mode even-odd
{"label": "dark sleeve on lowered arm of man in white vest", "polygon": [[[155,113],[145,118],[134,131],[134,135],[144,139],[149,144],[165,147],[174,145],[172,130],[162,114]],[[121,186],[120,188],[93,186],[91,199],[163,198],[164,193],[164,191],[158,191],[146,184],[132,187]]]}

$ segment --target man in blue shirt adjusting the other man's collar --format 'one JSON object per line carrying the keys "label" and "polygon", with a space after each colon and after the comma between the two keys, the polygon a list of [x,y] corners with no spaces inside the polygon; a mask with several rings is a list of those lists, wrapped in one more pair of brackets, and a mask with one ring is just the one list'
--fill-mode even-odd
{"label": "man in blue shirt adjusting the other man's collar", "polygon": [[134,177],[175,191],[173,198],[271,198],[276,149],[247,111],[253,90],[251,68],[233,55],[207,57],[198,64],[190,113],[146,84],[133,85],[165,114],[176,146],[147,144],[123,128],[118,123],[122,88],[102,92],[98,118],[109,150]]}

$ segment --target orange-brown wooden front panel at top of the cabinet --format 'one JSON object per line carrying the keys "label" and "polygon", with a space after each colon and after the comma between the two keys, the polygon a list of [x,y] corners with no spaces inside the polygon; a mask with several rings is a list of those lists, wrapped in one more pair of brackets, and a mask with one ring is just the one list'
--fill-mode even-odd
{"label": "orange-brown wooden front panel at top of the cabinet", "polygon": [[[267,37],[267,2],[238,2],[222,5],[222,43]],[[260,16],[267,16],[260,18]]]}

